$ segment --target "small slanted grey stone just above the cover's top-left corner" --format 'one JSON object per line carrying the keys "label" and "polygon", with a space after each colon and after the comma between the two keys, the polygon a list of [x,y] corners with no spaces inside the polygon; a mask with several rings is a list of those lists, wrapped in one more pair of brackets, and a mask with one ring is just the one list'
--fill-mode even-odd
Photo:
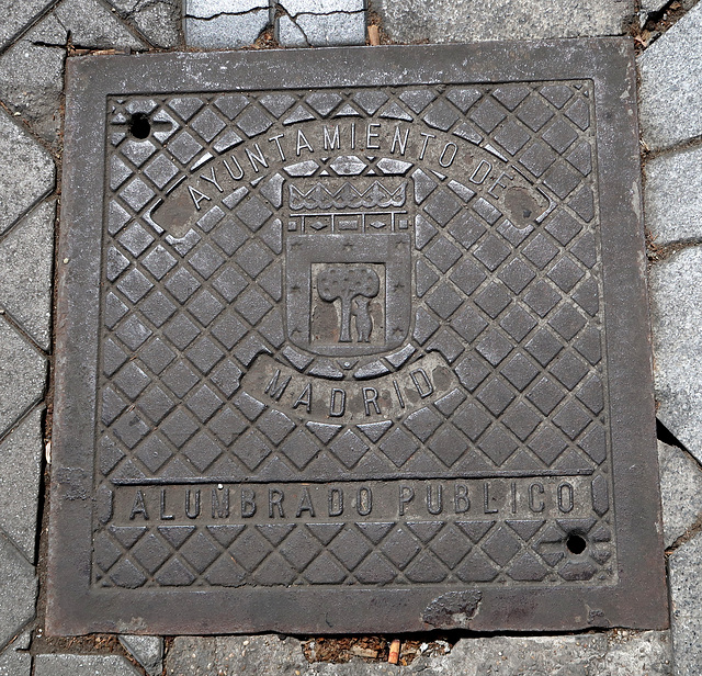
{"label": "small slanted grey stone just above the cover's top-left corner", "polygon": [[73,47],[83,49],[144,49],[113,12],[98,0],[64,0],[54,11],[70,32]]}

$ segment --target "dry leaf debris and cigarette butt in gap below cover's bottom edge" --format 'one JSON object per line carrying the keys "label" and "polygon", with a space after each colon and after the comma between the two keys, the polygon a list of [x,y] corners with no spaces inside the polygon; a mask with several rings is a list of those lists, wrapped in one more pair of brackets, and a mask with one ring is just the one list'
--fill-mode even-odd
{"label": "dry leaf debris and cigarette butt in gap below cover's bottom edge", "polygon": [[384,636],[319,638],[303,643],[307,662],[349,662],[360,657],[364,662],[387,662],[398,666],[411,664],[419,655],[445,655],[452,644],[443,639],[431,642],[408,639],[393,641]]}

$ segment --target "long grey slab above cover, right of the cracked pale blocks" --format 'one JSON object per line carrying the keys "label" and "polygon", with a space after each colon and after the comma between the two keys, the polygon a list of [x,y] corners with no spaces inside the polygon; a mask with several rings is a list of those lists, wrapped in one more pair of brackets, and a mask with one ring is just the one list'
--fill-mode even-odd
{"label": "long grey slab above cover, right of the cracked pale blocks", "polygon": [[634,2],[557,0],[378,0],[383,29],[398,42],[475,42],[621,35]]}

